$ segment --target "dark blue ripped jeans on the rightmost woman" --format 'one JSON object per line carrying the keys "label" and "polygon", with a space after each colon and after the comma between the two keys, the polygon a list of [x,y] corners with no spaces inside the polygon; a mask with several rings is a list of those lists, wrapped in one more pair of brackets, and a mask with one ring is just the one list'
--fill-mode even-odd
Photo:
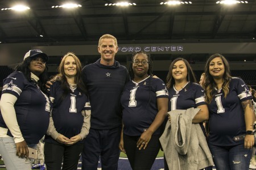
{"label": "dark blue ripped jeans on the rightmost woman", "polygon": [[243,144],[237,146],[216,146],[208,143],[217,170],[249,169],[251,149]]}

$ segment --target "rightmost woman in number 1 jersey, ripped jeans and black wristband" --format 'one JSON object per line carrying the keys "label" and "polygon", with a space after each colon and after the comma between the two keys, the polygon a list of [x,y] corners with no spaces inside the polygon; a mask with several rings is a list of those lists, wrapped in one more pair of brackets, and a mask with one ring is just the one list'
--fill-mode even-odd
{"label": "rightmost woman in number 1 jersey, ripped jeans and black wristband", "polygon": [[[230,76],[229,63],[213,54],[205,65],[205,94],[210,112],[208,145],[216,169],[249,169],[254,145],[251,94],[240,78]],[[245,139],[234,141],[234,137]]]}

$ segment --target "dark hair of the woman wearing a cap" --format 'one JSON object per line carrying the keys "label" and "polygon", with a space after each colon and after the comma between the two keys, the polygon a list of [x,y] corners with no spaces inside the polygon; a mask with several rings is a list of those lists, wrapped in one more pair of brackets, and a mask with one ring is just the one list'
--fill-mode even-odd
{"label": "dark hair of the woman wearing a cap", "polygon": [[[15,71],[21,71],[25,75],[28,82],[34,81],[31,79],[31,70],[28,68],[30,66],[31,61],[32,61],[32,58],[28,57],[15,67]],[[45,94],[47,90],[46,82],[48,80],[47,72],[48,72],[48,66],[46,63],[46,68],[44,69],[43,73],[39,75],[39,80],[37,82],[38,86],[40,87],[40,90],[42,90],[42,92],[44,92]]]}

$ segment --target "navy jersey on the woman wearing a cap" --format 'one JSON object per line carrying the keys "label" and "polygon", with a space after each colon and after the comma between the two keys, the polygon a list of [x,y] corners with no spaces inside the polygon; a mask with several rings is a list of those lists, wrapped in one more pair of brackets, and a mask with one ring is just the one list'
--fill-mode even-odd
{"label": "navy jersey on the woman wearing a cap", "polygon": [[[27,143],[38,143],[44,136],[49,125],[49,99],[39,87],[28,82],[22,72],[14,72],[3,80],[2,94],[17,97],[14,104],[16,118],[22,136]],[[0,126],[7,128],[2,114]],[[7,135],[13,137],[8,130]]]}

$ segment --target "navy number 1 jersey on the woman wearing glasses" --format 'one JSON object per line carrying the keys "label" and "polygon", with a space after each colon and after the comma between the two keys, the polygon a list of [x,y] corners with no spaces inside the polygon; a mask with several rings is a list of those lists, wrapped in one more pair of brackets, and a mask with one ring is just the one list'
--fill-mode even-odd
{"label": "navy number 1 jersey on the woman wearing glasses", "polygon": [[[130,81],[126,84],[121,96],[124,134],[137,136],[149,128],[158,113],[158,98],[168,98],[161,79],[148,76],[139,83]],[[160,134],[159,129],[154,134]]]}

